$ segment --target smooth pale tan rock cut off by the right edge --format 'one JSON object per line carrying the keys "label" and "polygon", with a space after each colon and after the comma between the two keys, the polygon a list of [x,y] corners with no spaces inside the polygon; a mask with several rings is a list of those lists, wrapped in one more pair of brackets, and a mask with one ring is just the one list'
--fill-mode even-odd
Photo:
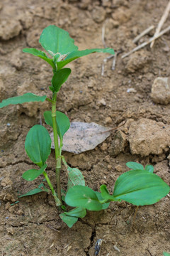
{"label": "smooth pale tan rock cut off by the right edge", "polygon": [[156,78],[152,85],[151,97],[155,103],[169,104],[170,78]]}

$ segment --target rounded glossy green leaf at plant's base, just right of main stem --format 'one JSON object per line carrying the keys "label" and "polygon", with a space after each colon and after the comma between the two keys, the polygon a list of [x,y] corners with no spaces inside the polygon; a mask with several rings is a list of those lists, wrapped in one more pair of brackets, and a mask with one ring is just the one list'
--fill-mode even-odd
{"label": "rounded glossy green leaf at plant's base, just right of main stem", "polygon": [[65,202],[68,206],[82,207],[87,210],[101,210],[102,204],[96,193],[87,186],[72,186],[67,191]]}

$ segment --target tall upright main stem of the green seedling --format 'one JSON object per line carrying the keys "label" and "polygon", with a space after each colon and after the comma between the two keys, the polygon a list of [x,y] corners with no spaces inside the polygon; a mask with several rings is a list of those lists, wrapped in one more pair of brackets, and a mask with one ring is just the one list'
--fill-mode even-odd
{"label": "tall upright main stem of the green seedling", "polygon": [[58,132],[57,132],[57,121],[56,121],[56,100],[57,100],[57,92],[54,92],[52,95],[52,127],[54,134],[54,142],[55,142],[55,160],[56,160],[56,178],[57,178],[57,196],[62,201],[61,196],[61,185],[60,185],[60,169],[61,169],[61,159],[60,159],[60,148],[58,143]]}

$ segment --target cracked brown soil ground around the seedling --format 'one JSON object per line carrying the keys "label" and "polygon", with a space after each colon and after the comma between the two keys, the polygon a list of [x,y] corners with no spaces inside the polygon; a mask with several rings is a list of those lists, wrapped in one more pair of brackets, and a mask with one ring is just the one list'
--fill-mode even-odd
{"label": "cracked brown soil ground around the seedling", "polygon": [[[154,104],[150,97],[154,78],[170,75],[169,34],[159,38],[152,50],[147,46],[121,59],[122,53],[136,46],[132,39],[138,33],[151,24],[157,25],[167,3],[159,0],[0,3],[0,100],[26,92],[27,88],[39,95],[50,95],[47,90],[52,76],[50,67],[43,60],[21,52],[25,47],[39,47],[43,28],[50,24],[64,28],[79,49],[103,48],[101,30],[107,20],[106,44],[121,52],[115,70],[111,70],[112,60],[108,60],[101,76],[106,55],[94,54],[76,60],[69,65],[72,75],[58,96],[58,110],[66,112],[72,121],[116,127],[127,120],[125,127],[113,132],[105,144],[93,151],[79,155],[64,153],[68,164],[79,167],[86,184],[95,190],[102,183],[112,190],[115,179],[128,171],[127,161],[153,164],[156,173],[169,183],[169,105]],[[165,26],[169,21],[168,18]],[[152,35],[153,31],[145,39]],[[135,91],[128,93],[130,87]],[[43,111],[49,107],[38,103],[0,110],[1,255],[92,256],[98,238],[103,239],[100,255],[157,256],[164,250],[170,252],[169,196],[153,206],[141,207],[134,225],[135,206],[128,203],[112,203],[108,210],[88,213],[70,229],[58,217],[52,197],[45,193],[22,198],[11,206],[18,200],[17,192],[35,188],[42,180],[40,177],[28,183],[21,177],[23,171],[34,167],[24,152],[24,141],[30,127],[40,123]],[[42,124],[45,124],[43,119]],[[166,132],[162,135],[163,126]],[[147,151],[141,149],[141,154],[137,151],[140,134],[142,145],[147,147]],[[48,173],[55,180],[53,157],[52,151]],[[66,186],[64,171],[62,186]]]}

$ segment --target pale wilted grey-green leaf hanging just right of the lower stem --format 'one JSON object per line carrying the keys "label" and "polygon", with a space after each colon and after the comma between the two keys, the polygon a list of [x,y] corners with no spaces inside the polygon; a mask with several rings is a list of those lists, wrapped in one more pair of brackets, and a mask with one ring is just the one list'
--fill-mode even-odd
{"label": "pale wilted grey-green leaf hanging just right of the lower stem", "polygon": [[81,174],[81,171],[77,168],[71,168],[67,166],[68,171],[68,189],[72,186],[85,186],[84,176]]}

